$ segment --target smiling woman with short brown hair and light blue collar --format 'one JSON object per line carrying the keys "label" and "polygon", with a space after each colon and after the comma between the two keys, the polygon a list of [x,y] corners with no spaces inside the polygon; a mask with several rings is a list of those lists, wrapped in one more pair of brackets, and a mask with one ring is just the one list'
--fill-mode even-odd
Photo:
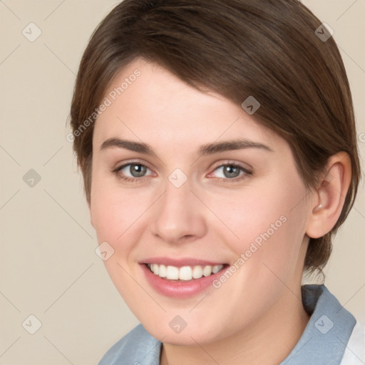
{"label": "smiling woman with short brown hair and light blue collar", "polygon": [[73,148],[141,322],[101,365],[364,363],[364,327],[301,285],[361,176],[331,35],[297,0],[125,0],[98,26]]}

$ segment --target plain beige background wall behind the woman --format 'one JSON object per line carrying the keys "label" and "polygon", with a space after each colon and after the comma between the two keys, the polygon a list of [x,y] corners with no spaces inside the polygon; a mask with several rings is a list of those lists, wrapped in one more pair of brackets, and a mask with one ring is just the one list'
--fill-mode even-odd
{"label": "plain beige background wall behind the woman", "polygon": [[[365,0],[303,2],[334,29],[354,95],[365,168]],[[81,174],[66,140],[81,54],[115,4],[0,1],[1,365],[97,364],[138,324],[94,252]],[[22,34],[25,29],[31,36],[31,22],[41,29],[34,42]],[[30,169],[41,177],[34,187],[23,180]],[[363,180],[326,269],[331,292],[362,322],[364,227]],[[26,331],[36,329],[31,314],[42,324],[34,334]]]}

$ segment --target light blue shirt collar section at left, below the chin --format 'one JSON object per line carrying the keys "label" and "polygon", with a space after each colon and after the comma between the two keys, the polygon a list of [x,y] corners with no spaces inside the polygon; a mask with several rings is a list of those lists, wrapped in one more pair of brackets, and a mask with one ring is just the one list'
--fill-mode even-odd
{"label": "light blue shirt collar section at left, below the chin", "polygon": [[106,352],[98,365],[158,365],[160,347],[161,342],[138,324]]}

